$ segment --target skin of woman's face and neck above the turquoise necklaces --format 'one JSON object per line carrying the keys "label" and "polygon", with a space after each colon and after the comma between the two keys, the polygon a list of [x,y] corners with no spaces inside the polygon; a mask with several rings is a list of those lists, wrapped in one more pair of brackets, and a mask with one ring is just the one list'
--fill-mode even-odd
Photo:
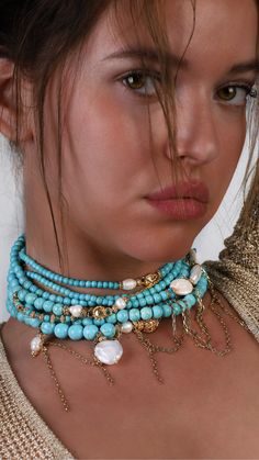
{"label": "skin of woman's face and neck above the turquoise necklaces", "polygon": [[[192,29],[192,9],[189,1],[166,4],[171,51],[181,56]],[[144,98],[119,80],[139,68],[139,63],[106,59],[121,48],[123,41],[134,44],[134,29],[126,24],[123,36],[116,30],[111,33],[104,16],[92,34],[87,60],[67,94],[63,188],[68,210],[65,227],[70,276],[86,278],[87,273],[89,279],[117,280],[153,271],[162,262],[183,257],[217,210],[243,148],[246,122],[245,90],[238,89],[230,103],[222,101],[216,92],[232,82],[255,81],[254,71],[234,75],[228,71],[236,64],[255,59],[257,15],[254,1],[245,1],[235,12],[237,18],[229,36],[232,2],[222,1],[213,12],[212,9],[211,1],[198,2],[196,29],[185,54],[189,67],[179,72],[176,94],[177,164],[184,166],[189,180],[200,180],[209,188],[210,200],[202,218],[173,221],[147,203],[147,194],[171,184],[171,168],[180,169],[171,165],[162,111],[153,98],[153,161]],[[244,15],[249,26],[240,40]],[[215,41],[218,29],[221,36]],[[148,44],[144,33],[143,43]],[[203,43],[205,47],[201,46]],[[54,79],[46,104],[45,148],[49,162],[46,177],[58,216],[57,165],[53,155],[57,125],[55,89]],[[237,101],[241,103],[235,105]],[[24,148],[27,251],[42,265],[59,271],[33,127]]]}

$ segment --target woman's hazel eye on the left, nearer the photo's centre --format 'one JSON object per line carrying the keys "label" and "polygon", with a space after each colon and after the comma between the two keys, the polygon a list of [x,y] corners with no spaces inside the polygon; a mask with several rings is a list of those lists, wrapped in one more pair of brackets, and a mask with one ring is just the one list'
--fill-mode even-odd
{"label": "woman's hazel eye on the left, nearer the photo's centre", "polygon": [[144,70],[134,70],[121,78],[123,85],[139,96],[156,96],[156,81],[159,76]]}

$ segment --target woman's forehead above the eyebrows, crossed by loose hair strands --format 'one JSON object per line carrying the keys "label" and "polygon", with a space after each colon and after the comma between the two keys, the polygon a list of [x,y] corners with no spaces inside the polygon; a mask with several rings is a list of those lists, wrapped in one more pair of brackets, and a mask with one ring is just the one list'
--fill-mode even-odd
{"label": "woman's forehead above the eyebrows, crossed by loose hair strands", "polygon": [[[114,15],[112,2],[100,19],[88,42],[95,61],[119,48],[155,47],[143,14],[136,10],[132,19],[135,3],[120,0],[116,2],[119,14]],[[256,57],[256,0],[161,0],[157,4],[159,16],[165,18],[170,49],[179,57],[185,53],[191,64],[204,61],[206,66],[224,59],[246,61]]]}

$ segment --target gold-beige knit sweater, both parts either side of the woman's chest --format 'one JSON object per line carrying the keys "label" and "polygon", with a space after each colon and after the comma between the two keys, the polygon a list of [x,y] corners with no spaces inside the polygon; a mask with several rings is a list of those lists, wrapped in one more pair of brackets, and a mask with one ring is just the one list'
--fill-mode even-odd
{"label": "gold-beige knit sweater, both parts either side of the woman's chest", "polygon": [[[219,261],[207,262],[216,285],[259,341],[259,197],[255,195],[249,222],[244,215]],[[31,405],[13,374],[0,339],[0,459],[71,459]]]}

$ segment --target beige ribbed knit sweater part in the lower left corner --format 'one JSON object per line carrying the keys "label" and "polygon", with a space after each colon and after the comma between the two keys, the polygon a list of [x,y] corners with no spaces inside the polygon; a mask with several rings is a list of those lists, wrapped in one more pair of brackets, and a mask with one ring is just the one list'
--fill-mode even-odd
{"label": "beige ribbed knit sweater part in the lower left corner", "polygon": [[19,386],[7,360],[1,339],[0,459],[72,459],[72,456],[38,416]]}

